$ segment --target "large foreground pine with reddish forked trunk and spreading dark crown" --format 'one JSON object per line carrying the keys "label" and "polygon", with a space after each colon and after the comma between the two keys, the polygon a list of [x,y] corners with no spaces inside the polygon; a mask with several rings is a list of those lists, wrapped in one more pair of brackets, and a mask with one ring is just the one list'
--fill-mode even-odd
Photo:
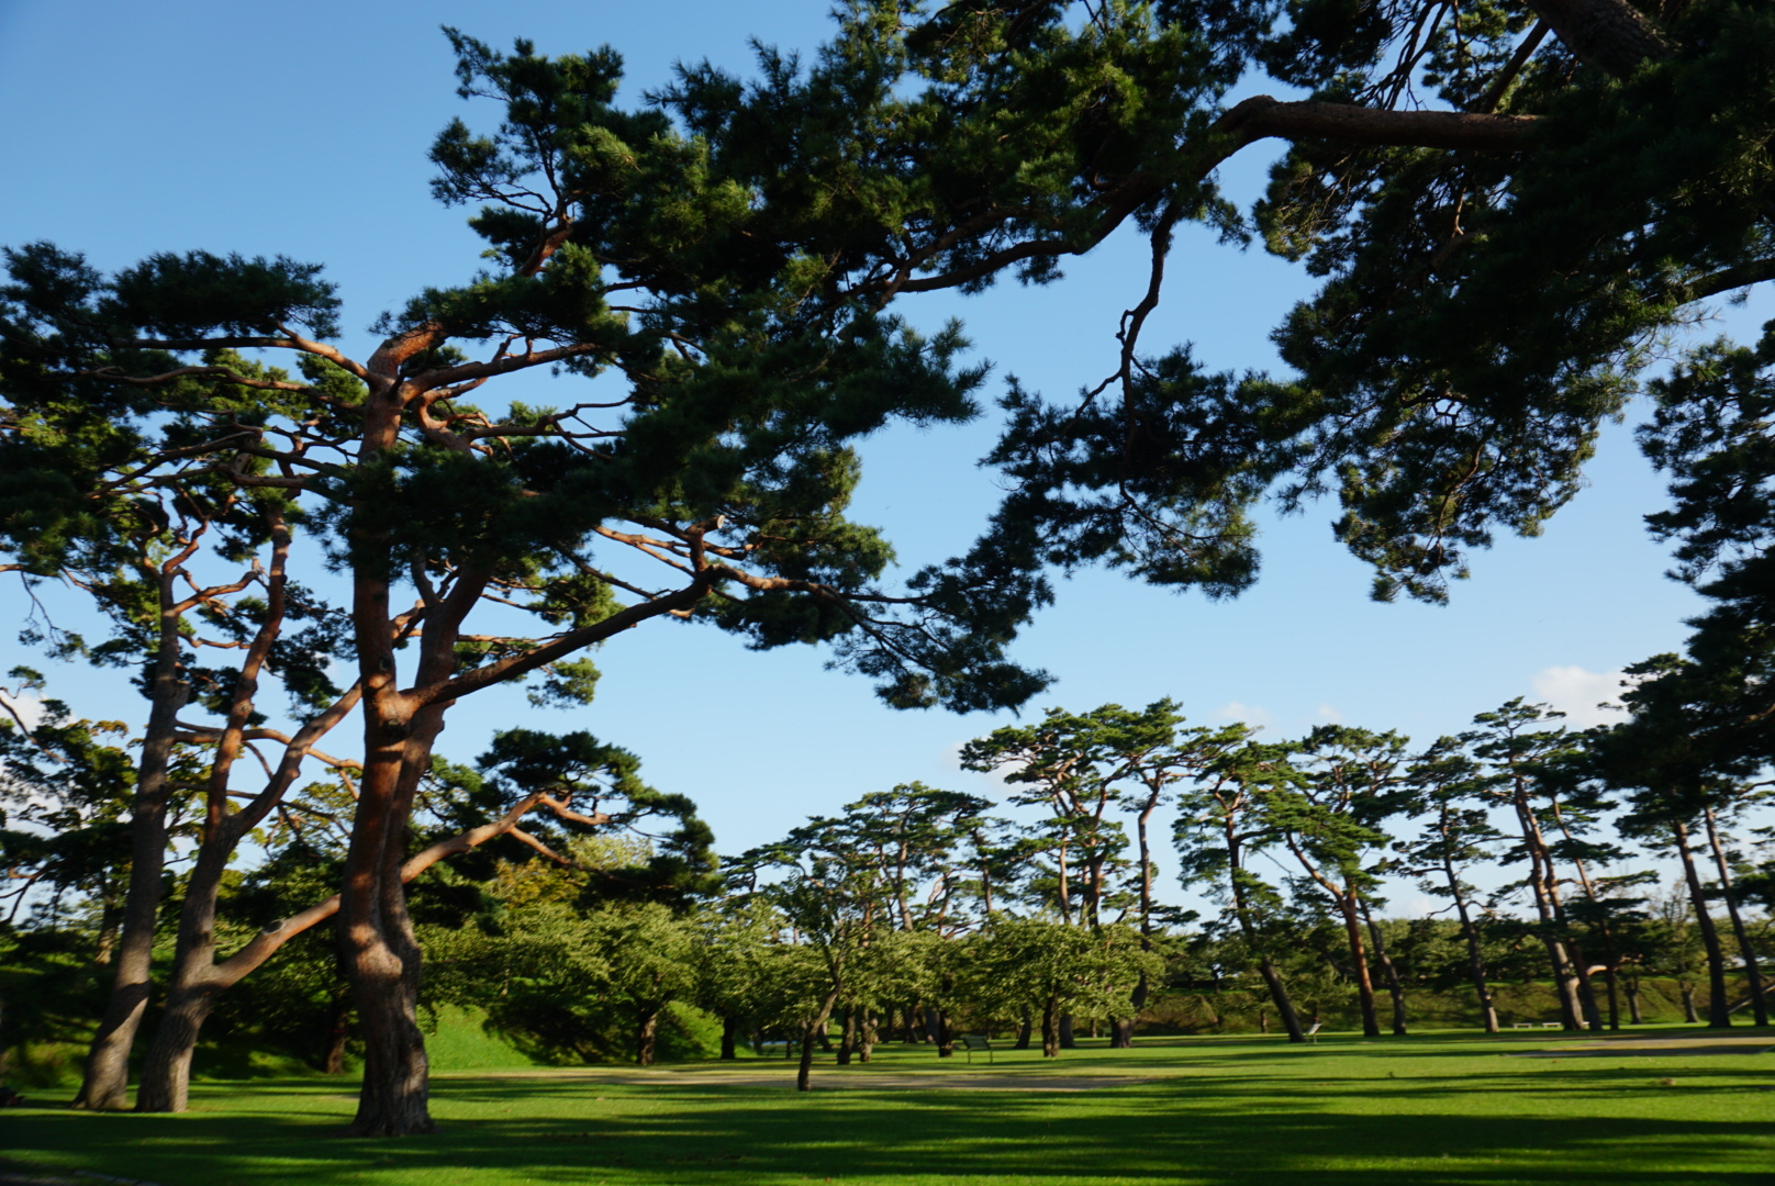
{"label": "large foreground pine with reddish forked trunk and spreading dark crown", "polygon": [[[974,414],[960,336],[921,337],[859,296],[870,261],[816,250],[818,194],[765,192],[719,137],[612,107],[614,55],[453,43],[463,96],[490,96],[501,123],[437,138],[435,192],[479,204],[488,263],[383,316],[366,357],[334,344],[320,268],[282,257],[160,254],[101,275],[37,243],[7,252],[0,307],[9,426],[69,403],[179,417],[201,431],[131,481],[279,492],[350,581],[362,769],[339,925],[366,1135],[431,1127],[403,865],[460,700],[525,678],[584,692],[579,652],[673,620],[756,648],[827,643],[898,707],[1003,707],[1042,685],[1001,655],[1042,597],[1017,565],[978,552],[891,593],[888,543],[843,513],[850,442]],[[845,135],[827,133],[840,163]],[[572,376],[572,403],[469,401],[536,369]],[[108,492],[89,494],[98,510]]]}

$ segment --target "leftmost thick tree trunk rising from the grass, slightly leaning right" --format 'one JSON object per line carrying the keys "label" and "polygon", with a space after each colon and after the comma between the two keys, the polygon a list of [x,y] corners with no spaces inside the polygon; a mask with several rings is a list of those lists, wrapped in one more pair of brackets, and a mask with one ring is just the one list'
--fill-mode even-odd
{"label": "leftmost thick tree trunk rising from the grass, slightly leaning right", "polygon": [[160,639],[154,682],[149,689],[147,730],[130,810],[130,888],[124,893],[122,934],[112,973],[105,1017],[87,1051],[75,1108],[119,1111],[130,1106],[130,1051],[142,1026],[153,987],[154,921],[160,916],[162,870],[167,861],[167,767],[179,708],[190,684],[179,678],[179,611],[172,573],[156,573],[160,586]]}

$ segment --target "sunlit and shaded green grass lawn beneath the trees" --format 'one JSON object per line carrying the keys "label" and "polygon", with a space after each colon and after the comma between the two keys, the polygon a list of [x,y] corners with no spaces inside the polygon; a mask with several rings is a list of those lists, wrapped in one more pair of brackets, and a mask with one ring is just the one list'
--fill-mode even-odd
{"label": "sunlit and shaded green grass lawn beneath the trees", "polygon": [[[335,1136],[351,1081],[213,1081],[181,1117],[7,1110],[0,1156],[165,1186],[1775,1182],[1775,1055],[1507,1056],[1569,1040],[1150,1039],[1058,1060],[998,1053],[990,1069],[888,1046],[866,1067],[824,1060],[808,1095],[769,1060],[596,1072],[614,1081],[458,1071],[433,1083],[442,1133],[396,1142]],[[889,1087],[907,1074],[935,1081]],[[962,1085],[989,1074],[1147,1081]]]}

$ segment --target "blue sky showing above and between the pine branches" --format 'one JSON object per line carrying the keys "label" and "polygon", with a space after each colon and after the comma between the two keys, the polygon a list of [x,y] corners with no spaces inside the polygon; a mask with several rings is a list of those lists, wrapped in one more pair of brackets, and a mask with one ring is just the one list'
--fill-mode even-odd
{"label": "blue sky showing above and between the pine branches", "polygon": [[[101,268],[188,249],[320,261],[346,302],[346,348],[362,348],[355,330],[383,307],[476,266],[463,211],[428,195],[424,153],[451,117],[492,112],[454,96],[438,25],[495,44],[532,37],[545,53],[609,43],[625,55],[623,98],[634,101],[674,60],[746,67],[749,36],[811,48],[827,18],[824,0],[0,0],[0,243],[53,240]],[[1223,176],[1228,190],[1255,194],[1276,151],[1248,149]],[[1122,234],[1060,284],[943,295],[903,312],[927,325],[962,318],[994,362],[994,385],[1017,375],[1067,396],[1111,366],[1141,256]],[[1143,341],[1193,341],[1216,369],[1273,369],[1269,328],[1310,291],[1299,268],[1205,231],[1182,236],[1168,275]],[[1757,312],[1729,311],[1731,327],[1741,332]],[[856,513],[888,527],[907,572],[978,531],[998,495],[974,465],[992,437],[985,419],[868,442]],[[1663,579],[1668,561],[1644,533],[1663,490],[1629,428],[1608,433],[1590,479],[1544,536],[1477,554],[1447,607],[1370,602],[1369,573],[1331,540],[1331,506],[1267,522],[1264,577],[1235,602],[1085,573],[1061,584],[1060,604],[1019,646],[1058,676],[1033,708],[1173,696],[1196,721],[1244,719],[1269,737],[1345,721],[1429,742],[1530,696],[1589,723],[1612,673],[1677,648],[1681,618],[1697,607]],[[16,586],[0,586],[0,605],[23,613]],[[751,653],[696,627],[639,630],[596,659],[604,682],[589,710],[540,719],[522,696],[488,692],[456,710],[440,749],[472,756],[520,721],[589,728],[637,751],[655,785],[694,795],[731,852],[900,781],[990,794],[982,776],[957,771],[955,751],[1010,719],[896,714],[866,682],[824,671],[820,653]],[[32,657],[0,636],[0,662],[21,660]],[[115,676],[50,675],[85,716],[142,716]]]}

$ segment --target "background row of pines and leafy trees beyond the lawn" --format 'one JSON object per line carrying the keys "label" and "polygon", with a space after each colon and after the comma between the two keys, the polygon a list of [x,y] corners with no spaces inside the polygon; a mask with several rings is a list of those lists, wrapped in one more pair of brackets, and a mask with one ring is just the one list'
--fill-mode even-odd
{"label": "background row of pines and leafy trees beyond the lawn", "polygon": [[[1008,1028],[1019,1046],[1056,1055],[1079,1017],[1129,1046],[1150,1005],[1203,985],[1219,1001],[1258,1001],[1260,1026],[1273,1012],[1290,1040],[1345,1000],[1363,1033],[1402,1035],[1413,992],[1447,998],[1457,982],[1477,1024],[1498,1032],[1500,976],[1548,982],[1567,1030],[1619,1028],[1622,1003],[1638,1023],[1647,976],[1683,985],[1690,1021],[1704,982],[1708,1024],[1731,1026],[1738,1008],[1766,1024],[1775,861],[1759,865],[1734,840],[1764,787],[1695,803],[1626,779],[1628,797],[1613,801],[1633,721],[1573,731],[1558,719],[1516,700],[1413,749],[1397,733],[1344,724],[1264,742],[1244,724],[1191,726],[1168,700],[1138,712],[1053,708],[962,751],[964,767],[1003,779],[1017,817],[909,783],[719,866],[694,804],[648,788],[632,755],[586,733],[509,730],[472,769],[438,760],[419,794],[426,826],[408,865],[415,936],[433,968],[421,1000],[479,1007],[543,1058],[605,1058],[621,1033],[643,1063],[662,1024],[689,1032],[680,1014],[694,1007],[719,1023],[724,1056],[740,1037],[783,1035],[801,1049],[804,1087],[832,1021],[840,1063],[868,1060],[882,1033],[948,1055],[960,1026]],[[34,950],[85,948],[75,964],[87,973],[115,959],[131,874],[121,826],[131,765],[119,733],[71,721],[57,701],[28,730],[16,714],[0,728],[16,882],[0,895],[0,1026],[20,1024]],[[201,760],[186,751],[201,744],[176,747],[174,769]],[[314,1062],[327,1069],[362,1040],[328,945],[300,923],[328,916],[350,781],[341,769],[288,799],[254,838],[257,861],[215,890],[201,879],[201,833],[181,824],[202,799],[176,799],[174,831],[186,840],[170,897],[215,895],[218,932],[204,959],[245,968],[193,1014],[179,994],[190,945],[167,946],[188,905],[181,930],[162,932],[167,996],[149,1051],[181,1051],[181,1092],[206,1019],[247,973],[270,987],[222,1007],[225,1032],[240,1028],[241,1008],[296,1033],[325,1030]],[[527,817],[541,803],[547,818]],[[463,827],[488,815],[499,820]],[[1159,902],[1154,833],[1166,818],[1180,882],[1218,904],[1218,918]],[[1679,898],[1654,907],[1656,874],[1622,868],[1640,854],[1677,859]],[[1498,882],[1489,891],[1475,886],[1486,868],[1479,879]],[[1448,920],[1420,934],[1392,918],[1388,877],[1443,900]],[[257,959],[264,936],[286,930],[279,961]],[[1436,957],[1420,950],[1431,932]],[[75,964],[51,959],[39,975],[66,980]],[[1734,980],[1745,1000],[1732,1000]],[[1207,1010],[1218,1017],[1225,1003]]]}

